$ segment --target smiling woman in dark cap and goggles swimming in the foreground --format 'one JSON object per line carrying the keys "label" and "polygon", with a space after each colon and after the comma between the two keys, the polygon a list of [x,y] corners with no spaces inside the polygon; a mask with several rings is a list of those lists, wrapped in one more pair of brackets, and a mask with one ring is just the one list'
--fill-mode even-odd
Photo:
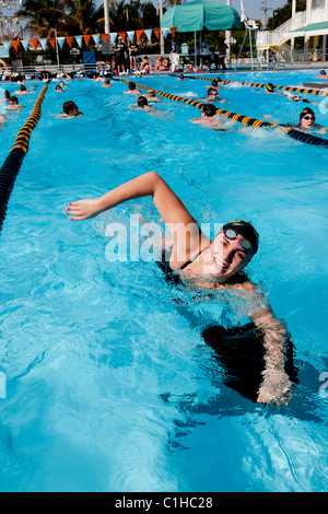
{"label": "smiling woman in dark cap and goggles swimming in the foreground", "polygon": [[148,196],[172,234],[169,248],[162,248],[167,272],[178,276],[183,284],[192,285],[194,290],[227,290],[243,295],[248,304],[247,317],[263,335],[265,370],[257,401],[286,401],[292,386],[284,370],[288,332],[244,272],[259,247],[259,235],[250,223],[236,220],[225,223],[211,241],[155,172],[133,178],[99,198],[73,201],[68,207],[68,215],[74,222],[87,220],[128,200]]}

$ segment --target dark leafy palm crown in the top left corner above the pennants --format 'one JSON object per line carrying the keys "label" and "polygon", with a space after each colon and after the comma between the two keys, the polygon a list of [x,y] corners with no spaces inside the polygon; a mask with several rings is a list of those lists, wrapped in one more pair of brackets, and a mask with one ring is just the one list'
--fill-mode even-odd
{"label": "dark leafy palm crown in the top left corner above the pennants", "polygon": [[60,0],[23,0],[17,12],[19,17],[28,20],[25,28],[32,36],[39,37],[48,37],[66,15]]}

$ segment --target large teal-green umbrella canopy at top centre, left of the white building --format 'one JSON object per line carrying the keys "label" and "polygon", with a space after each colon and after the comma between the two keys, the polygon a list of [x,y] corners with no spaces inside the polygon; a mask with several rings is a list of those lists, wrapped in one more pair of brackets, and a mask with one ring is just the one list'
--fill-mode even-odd
{"label": "large teal-green umbrella canopy at top centre, left of the white building", "polygon": [[238,12],[216,0],[195,0],[168,9],[161,22],[161,28],[177,27],[177,32],[232,31],[241,28]]}

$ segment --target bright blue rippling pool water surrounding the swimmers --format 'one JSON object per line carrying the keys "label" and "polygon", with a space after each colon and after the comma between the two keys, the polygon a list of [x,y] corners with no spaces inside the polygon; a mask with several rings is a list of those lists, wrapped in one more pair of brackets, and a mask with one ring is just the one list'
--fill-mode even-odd
{"label": "bright blue rippling pool water surrounding the swimmers", "polygon": [[[313,75],[226,73],[285,85]],[[136,81],[206,96],[202,81]],[[73,81],[66,93],[55,84],[0,237],[0,490],[326,491],[327,150],[241,125],[213,132],[190,124],[197,108],[165,98],[160,116],[133,112],[121,83]],[[0,127],[1,163],[44,84],[34,85],[24,112]],[[223,108],[259,119],[297,122],[301,110],[238,85],[220,95],[231,102]],[[66,100],[84,116],[56,118]],[[325,108],[314,109],[327,126]],[[259,231],[249,276],[295,352],[300,382],[286,406],[227,387],[201,337],[209,323],[243,323],[239,299],[200,302],[154,262],[107,260],[108,223],[156,219],[150,199],[81,223],[67,218],[70,201],[152,170],[199,222],[242,218]]]}

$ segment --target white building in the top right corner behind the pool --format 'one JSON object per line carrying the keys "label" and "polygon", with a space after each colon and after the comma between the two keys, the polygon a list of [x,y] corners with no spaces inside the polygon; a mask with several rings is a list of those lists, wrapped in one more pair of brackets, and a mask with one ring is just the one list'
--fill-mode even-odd
{"label": "white building in the top right corner behind the pool", "polygon": [[304,48],[321,48],[326,59],[328,34],[328,0],[307,0],[306,11],[292,3],[292,17],[274,31],[257,34],[258,50],[293,50],[295,37],[304,37]]}

